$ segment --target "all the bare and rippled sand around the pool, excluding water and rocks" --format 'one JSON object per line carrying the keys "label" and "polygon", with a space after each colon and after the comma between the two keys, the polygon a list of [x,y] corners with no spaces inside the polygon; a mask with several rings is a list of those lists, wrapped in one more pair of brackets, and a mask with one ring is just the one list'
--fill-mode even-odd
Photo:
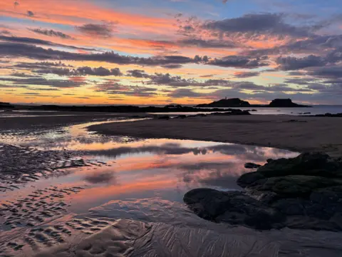
{"label": "all the bare and rippled sand around the pool, excluding water and rocks", "polygon": [[[110,118],[108,114],[43,115],[0,118],[0,132],[56,129]],[[293,119],[297,122],[289,122]],[[342,119],[316,117],[207,116],[102,124],[92,126],[90,130],[115,136],[191,138],[296,151],[326,151],[341,156],[341,125]],[[0,151],[4,157],[1,170],[10,168],[21,178],[28,174],[22,181],[24,184],[38,179],[37,172],[44,175],[44,171],[51,171],[63,176],[69,167],[92,165],[86,160],[74,159],[68,151],[43,152],[6,144]],[[14,155],[17,155],[17,161],[14,159],[9,167],[7,159]],[[26,169],[22,170],[22,166]],[[4,176],[8,182],[4,191],[19,189],[14,183],[15,177]],[[86,190],[86,187],[68,186],[67,183],[61,188],[32,188],[29,195],[2,202],[0,256],[337,257],[342,254],[341,233],[287,228],[259,232],[242,226],[227,226],[195,216],[183,203],[160,198],[113,199],[84,214],[70,213],[68,196]]]}

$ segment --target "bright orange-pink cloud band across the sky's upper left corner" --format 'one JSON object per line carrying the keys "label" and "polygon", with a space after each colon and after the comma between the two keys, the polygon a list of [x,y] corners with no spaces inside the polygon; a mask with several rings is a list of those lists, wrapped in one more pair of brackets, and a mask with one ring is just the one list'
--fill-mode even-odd
{"label": "bright orange-pink cloud band across the sky's upper left corner", "polygon": [[[101,22],[130,26],[136,31],[165,32],[175,29],[171,19],[155,18],[140,14],[105,9],[86,1],[26,0],[14,8],[11,1],[0,2],[0,14],[21,19],[33,19],[54,24],[79,26],[85,23]],[[27,11],[33,14],[28,15]]]}

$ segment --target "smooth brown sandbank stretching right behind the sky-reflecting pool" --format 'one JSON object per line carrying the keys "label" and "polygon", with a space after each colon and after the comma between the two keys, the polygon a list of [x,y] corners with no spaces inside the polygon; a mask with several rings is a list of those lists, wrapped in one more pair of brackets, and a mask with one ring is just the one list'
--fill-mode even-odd
{"label": "smooth brown sandbank stretching right behind the sky-reflecting pool", "polygon": [[340,118],[251,115],[154,119],[88,129],[105,135],[242,143],[342,156],[341,128]]}

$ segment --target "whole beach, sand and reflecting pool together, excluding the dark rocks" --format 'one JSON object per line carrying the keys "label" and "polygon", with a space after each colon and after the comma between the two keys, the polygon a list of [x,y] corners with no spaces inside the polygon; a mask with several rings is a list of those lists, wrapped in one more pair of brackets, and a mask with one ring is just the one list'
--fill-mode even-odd
{"label": "whole beach, sand and reflecting pool together, excluding the dark rocks", "polygon": [[[342,119],[250,115],[118,122],[133,117],[0,117],[0,255],[207,257],[222,256],[229,246],[223,256],[341,256],[340,232],[261,232],[214,223],[177,197],[190,188],[234,188],[247,161],[263,164],[303,151],[341,156]],[[89,124],[100,122],[88,133]]]}

